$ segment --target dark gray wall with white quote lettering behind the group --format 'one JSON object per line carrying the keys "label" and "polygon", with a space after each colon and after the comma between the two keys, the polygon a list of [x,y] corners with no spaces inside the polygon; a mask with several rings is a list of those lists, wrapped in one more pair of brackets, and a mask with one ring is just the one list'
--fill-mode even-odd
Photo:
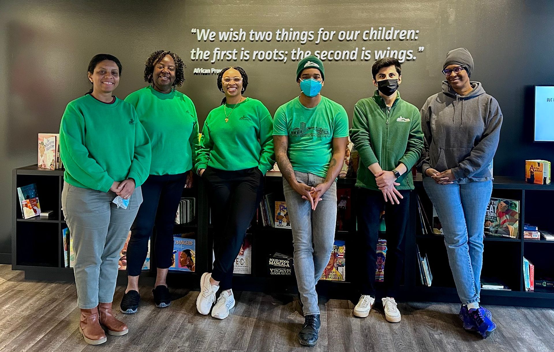
{"label": "dark gray wall with white quote lettering behind the group", "polygon": [[[75,1],[3,0],[0,4],[0,253],[11,252],[11,170],[36,162],[38,132],[58,131],[68,101],[89,89],[86,66],[97,53],[116,55],[123,66],[116,94],[121,98],[145,83],[143,63],[153,50],[168,48],[187,64],[181,90],[204,120],[222,98],[216,76],[192,75],[195,67],[223,68],[229,63],[191,62],[193,47],[250,50],[315,44],[198,43],[191,28],[227,30],[356,30],[370,27],[418,29],[415,42],[334,40],[317,49],[417,49],[417,59],[403,66],[401,93],[416,106],[440,89],[445,53],[466,47],[473,54],[472,79],[499,101],[504,125],[495,175],[522,177],[525,159],[554,159],[552,145],[532,140],[532,85],[554,84],[554,4],[548,0],[457,2],[407,1]],[[372,94],[370,62],[326,62],[322,93],[351,115],[360,98]],[[244,62],[250,84],[246,95],[262,100],[271,113],[299,92],[296,63]],[[553,160],[554,161],[554,160]],[[0,260],[7,256],[1,256]]]}

